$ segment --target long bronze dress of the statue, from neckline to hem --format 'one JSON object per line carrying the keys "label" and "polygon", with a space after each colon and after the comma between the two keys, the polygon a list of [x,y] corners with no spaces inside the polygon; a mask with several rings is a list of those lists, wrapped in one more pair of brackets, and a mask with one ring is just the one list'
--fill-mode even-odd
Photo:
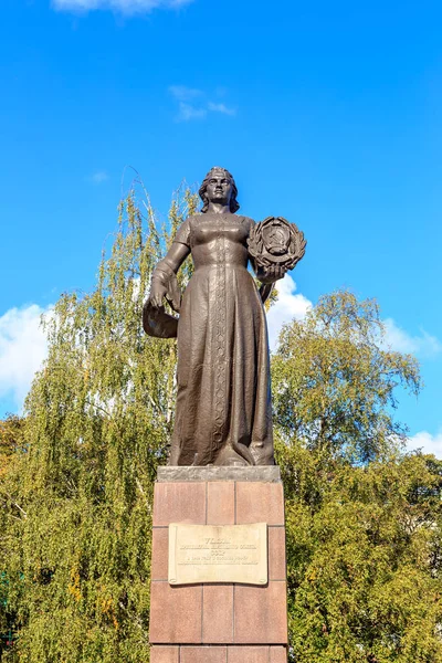
{"label": "long bronze dress of the statue, from neckline to hem", "polygon": [[264,307],[248,271],[254,221],[199,214],[180,227],[194,272],[178,323],[171,465],[273,465]]}

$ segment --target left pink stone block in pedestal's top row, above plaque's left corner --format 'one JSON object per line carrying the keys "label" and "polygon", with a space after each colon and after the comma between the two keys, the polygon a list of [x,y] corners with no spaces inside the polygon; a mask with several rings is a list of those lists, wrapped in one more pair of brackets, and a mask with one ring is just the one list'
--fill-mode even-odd
{"label": "left pink stone block in pedestal's top row, above plaque's left corner", "polygon": [[206,524],[206,483],[156,483],[154,527],[170,523]]}

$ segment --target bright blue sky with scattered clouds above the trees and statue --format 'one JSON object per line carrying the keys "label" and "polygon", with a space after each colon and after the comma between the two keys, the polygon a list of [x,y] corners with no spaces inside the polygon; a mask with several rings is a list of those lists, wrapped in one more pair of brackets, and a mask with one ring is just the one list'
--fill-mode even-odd
{"label": "bright blue sky with scattered clouds above the trees and statue", "polygon": [[399,415],[442,456],[441,21],[428,1],[3,0],[0,414],[44,354],[38,314],[92,287],[125,167],[166,212],[222,165],[243,213],[308,240],[273,327],[340,286],[377,297],[422,362]]}

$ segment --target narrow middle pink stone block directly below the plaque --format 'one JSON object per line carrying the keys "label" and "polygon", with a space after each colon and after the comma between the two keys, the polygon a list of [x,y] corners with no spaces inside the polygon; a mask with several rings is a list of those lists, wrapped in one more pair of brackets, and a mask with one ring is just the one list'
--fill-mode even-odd
{"label": "narrow middle pink stone block directly below the plaque", "polygon": [[202,594],[202,642],[233,642],[233,586],[204,585]]}

